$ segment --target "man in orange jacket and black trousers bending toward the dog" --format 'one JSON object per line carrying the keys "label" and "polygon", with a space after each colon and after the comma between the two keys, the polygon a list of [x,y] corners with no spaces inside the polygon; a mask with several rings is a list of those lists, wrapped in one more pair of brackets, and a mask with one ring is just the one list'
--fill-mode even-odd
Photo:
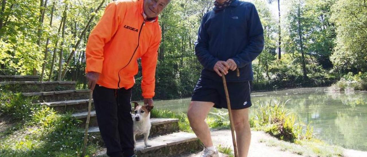
{"label": "man in orange jacket and black trousers bending toward the dog", "polygon": [[161,29],[158,15],[170,0],[117,0],[108,4],[86,48],[99,131],[111,157],[134,155],[131,88],[141,58],[144,104],[153,106]]}

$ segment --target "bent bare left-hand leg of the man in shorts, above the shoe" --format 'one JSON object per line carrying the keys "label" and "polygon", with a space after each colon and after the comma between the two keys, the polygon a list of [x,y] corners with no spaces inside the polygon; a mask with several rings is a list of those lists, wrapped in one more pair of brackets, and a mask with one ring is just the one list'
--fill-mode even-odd
{"label": "bent bare left-hand leg of the man in shorts, above the shoe", "polygon": [[210,129],[208,124],[205,122],[205,118],[208,116],[208,113],[213,106],[214,103],[212,102],[192,101],[190,102],[189,110],[187,112],[192,130],[201,142],[203,142],[205,147],[213,146]]}

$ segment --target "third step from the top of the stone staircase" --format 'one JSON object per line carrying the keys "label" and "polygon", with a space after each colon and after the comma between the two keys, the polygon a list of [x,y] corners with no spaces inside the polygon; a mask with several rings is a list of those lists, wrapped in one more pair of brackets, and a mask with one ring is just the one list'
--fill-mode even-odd
{"label": "third step from the top of the stone staircase", "polygon": [[69,91],[53,91],[53,92],[36,92],[23,93],[23,96],[37,96],[33,102],[55,102],[55,101],[71,101],[80,99],[89,99],[90,90],[69,90]]}

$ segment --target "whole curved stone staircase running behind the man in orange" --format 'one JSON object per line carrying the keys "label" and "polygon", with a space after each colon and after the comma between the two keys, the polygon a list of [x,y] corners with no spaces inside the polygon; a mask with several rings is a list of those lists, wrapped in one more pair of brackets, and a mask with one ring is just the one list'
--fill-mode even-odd
{"label": "whole curved stone staircase running behind the man in orange", "polygon": [[[83,122],[80,123],[80,131],[84,132],[89,90],[76,90],[76,83],[73,81],[39,82],[37,80],[39,80],[37,76],[0,75],[0,85],[8,85],[13,91],[22,92],[26,97],[32,97],[33,103],[52,107],[61,114],[72,112],[74,118]],[[98,142],[103,146],[93,106],[92,104],[88,131],[90,142]],[[149,144],[152,146],[145,147],[142,136],[137,137],[136,153],[139,157],[174,157],[203,149],[195,134],[179,132],[178,119],[152,118],[151,123]],[[103,153],[105,151],[99,155],[103,156]]]}

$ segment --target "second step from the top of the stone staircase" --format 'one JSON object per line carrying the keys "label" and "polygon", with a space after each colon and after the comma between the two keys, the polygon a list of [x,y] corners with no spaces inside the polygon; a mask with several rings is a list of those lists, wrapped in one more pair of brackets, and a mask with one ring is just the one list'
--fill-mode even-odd
{"label": "second step from the top of the stone staircase", "polygon": [[0,82],[0,85],[6,85],[10,91],[14,92],[50,92],[50,91],[75,90],[75,84],[76,84],[75,81]]}

